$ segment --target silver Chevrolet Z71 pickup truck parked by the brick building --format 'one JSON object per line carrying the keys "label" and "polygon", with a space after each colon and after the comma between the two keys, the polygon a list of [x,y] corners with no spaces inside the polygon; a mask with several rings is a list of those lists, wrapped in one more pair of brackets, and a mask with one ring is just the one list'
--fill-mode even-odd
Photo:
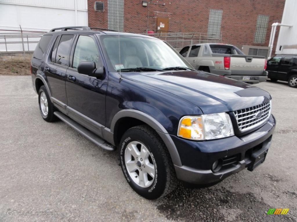
{"label": "silver Chevrolet Z71 pickup truck parked by the brick building", "polygon": [[197,70],[255,84],[266,80],[264,56],[245,55],[236,46],[204,43],[186,46],[179,52]]}

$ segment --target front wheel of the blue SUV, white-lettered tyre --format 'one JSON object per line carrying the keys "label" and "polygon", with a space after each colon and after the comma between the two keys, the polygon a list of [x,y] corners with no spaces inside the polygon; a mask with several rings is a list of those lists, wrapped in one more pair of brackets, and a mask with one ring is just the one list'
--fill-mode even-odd
{"label": "front wheel of the blue SUV, white-lettered tyre", "polygon": [[124,133],[120,144],[121,168],[135,192],[153,200],[176,188],[173,163],[156,131],[135,126]]}

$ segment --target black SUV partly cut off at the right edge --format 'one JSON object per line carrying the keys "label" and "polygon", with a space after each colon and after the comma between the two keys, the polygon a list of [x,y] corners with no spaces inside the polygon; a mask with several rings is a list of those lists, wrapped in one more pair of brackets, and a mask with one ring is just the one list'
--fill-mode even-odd
{"label": "black SUV partly cut off at the right edge", "polygon": [[266,70],[271,81],[287,81],[290,87],[297,87],[297,55],[276,55],[268,60]]}

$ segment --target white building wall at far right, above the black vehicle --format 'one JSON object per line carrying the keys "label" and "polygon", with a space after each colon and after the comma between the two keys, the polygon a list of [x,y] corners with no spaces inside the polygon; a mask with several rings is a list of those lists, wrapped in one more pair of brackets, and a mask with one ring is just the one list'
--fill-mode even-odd
{"label": "white building wall at far right, above the black vehicle", "polygon": [[[297,54],[297,0],[286,0],[282,24],[293,27],[280,27],[276,54]],[[279,46],[282,46],[281,50]]]}

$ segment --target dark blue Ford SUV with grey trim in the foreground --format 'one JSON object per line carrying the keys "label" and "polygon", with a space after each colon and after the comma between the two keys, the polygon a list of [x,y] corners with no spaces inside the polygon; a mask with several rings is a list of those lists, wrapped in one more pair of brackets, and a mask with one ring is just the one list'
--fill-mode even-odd
{"label": "dark blue Ford SUV with grey trim in the foreground", "polygon": [[271,144],[268,92],[195,71],[157,38],[56,28],[37,45],[31,73],[42,118],[118,148],[124,177],[148,199],[178,180],[205,186],[252,171]]}

